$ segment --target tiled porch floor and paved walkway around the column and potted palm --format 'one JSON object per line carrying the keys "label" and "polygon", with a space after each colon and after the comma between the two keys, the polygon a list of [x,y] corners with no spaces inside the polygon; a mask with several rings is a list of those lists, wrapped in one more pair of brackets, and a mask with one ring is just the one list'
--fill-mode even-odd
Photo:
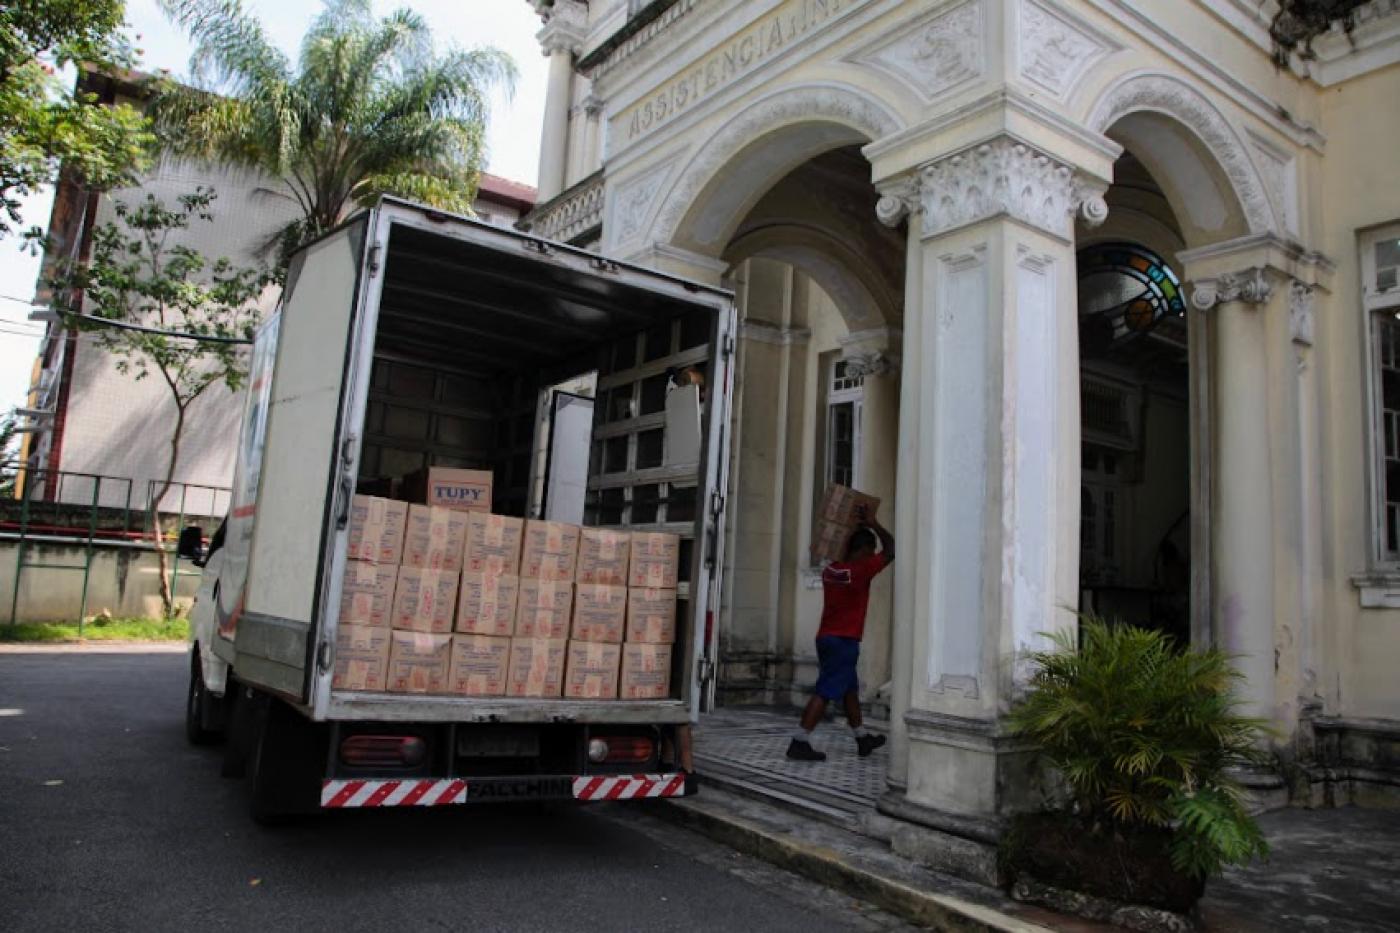
{"label": "tiled porch floor and paved walkway around the column and potted palm", "polygon": [[[827,761],[784,756],[797,710],[728,707],[696,728],[699,797],[675,818],[749,855],[939,929],[1106,930],[1029,908],[890,852],[875,813],[888,748],[858,758],[843,721],[818,727]],[[878,723],[871,723],[879,728]],[[1266,863],[1226,871],[1201,901],[1201,929],[1219,933],[1400,930],[1400,813],[1278,810],[1260,820]]]}

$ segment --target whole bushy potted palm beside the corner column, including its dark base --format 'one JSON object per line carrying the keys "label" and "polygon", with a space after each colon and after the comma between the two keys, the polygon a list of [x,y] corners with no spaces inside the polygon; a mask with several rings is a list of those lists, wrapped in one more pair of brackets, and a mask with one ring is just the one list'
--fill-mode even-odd
{"label": "whole bushy potted palm beside the corner column, including its dark base", "polygon": [[1116,922],[1123,905],[1187,913],[1207,878],[1268,852],[1231,779],[1263,758],[1264,726],[1232,693],[1240,674],[1218,650],[1096,618],[1053,639],[1012,726],[1060,790],[1011,827],[1014,894]]}

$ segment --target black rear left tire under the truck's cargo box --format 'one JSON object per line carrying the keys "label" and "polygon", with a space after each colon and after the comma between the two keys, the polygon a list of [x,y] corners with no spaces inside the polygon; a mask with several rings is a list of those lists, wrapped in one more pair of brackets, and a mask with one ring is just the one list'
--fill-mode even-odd
{"label": "black rear left tire under the truck's cargo box", "polygon": [[253,822],[281,825],[319,813],[325,741],[308,721],[279,699],[269,699],[248,755]]}

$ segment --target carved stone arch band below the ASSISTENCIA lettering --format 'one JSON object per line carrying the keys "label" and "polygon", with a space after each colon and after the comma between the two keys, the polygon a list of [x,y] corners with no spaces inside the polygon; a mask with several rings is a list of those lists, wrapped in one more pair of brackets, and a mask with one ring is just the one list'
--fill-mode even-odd
{"label": "carved stone arch band below the ASSISTENCIA lettering", "polygon": [[846,84],[787,87],[739,111],[661,196],[647,241],[718,255],[749,207],[806,160],[902,129],[895,111]]}

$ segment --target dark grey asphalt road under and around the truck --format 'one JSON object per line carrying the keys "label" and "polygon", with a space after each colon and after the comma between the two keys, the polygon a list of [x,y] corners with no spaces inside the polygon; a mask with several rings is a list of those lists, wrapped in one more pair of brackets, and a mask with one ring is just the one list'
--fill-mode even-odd
{"label": "dark grey asphalt road under and around the truck", "polygon": [[636,804],[259,828],[185,744],[186,664],[0,653],[0,929],[906,929]]}

